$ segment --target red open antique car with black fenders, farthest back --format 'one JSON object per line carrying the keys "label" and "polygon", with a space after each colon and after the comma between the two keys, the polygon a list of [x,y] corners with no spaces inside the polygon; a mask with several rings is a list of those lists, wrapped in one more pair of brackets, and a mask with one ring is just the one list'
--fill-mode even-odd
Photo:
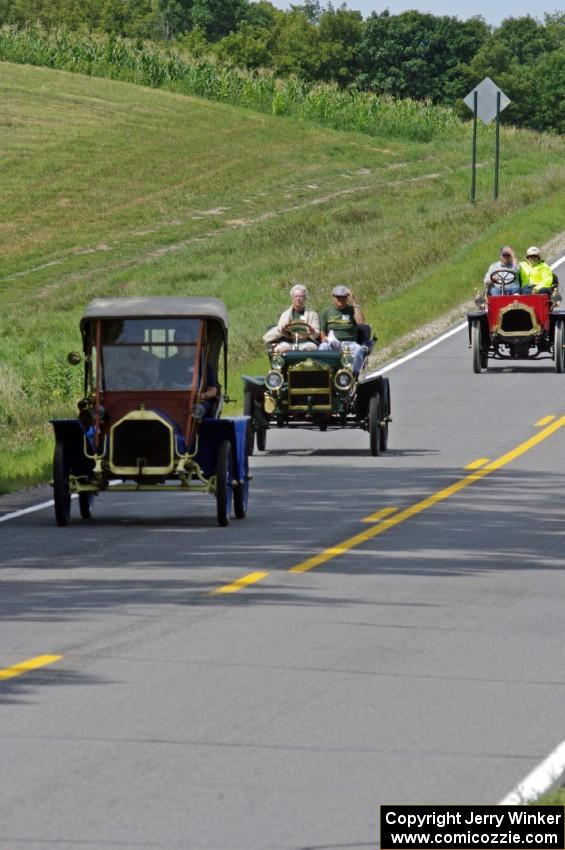
{"label": "red open antique car with black fenders, farthest back", "polygon": [[467,314],[473,371],[488,369],[489,359],[539,357],[553,358],[555,371],[565,371],[565,310],[557,286],[551,294],[507,294],[515,272],[499,270],[490,277],[500,294],[477,293],[477,309]]}

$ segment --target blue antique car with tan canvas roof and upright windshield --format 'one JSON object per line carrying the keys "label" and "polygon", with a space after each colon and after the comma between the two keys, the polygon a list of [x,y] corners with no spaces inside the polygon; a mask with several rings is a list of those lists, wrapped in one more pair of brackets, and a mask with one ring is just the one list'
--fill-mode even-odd
{"label": "blue antique car with tan canvas roof and upright windshield", "polygon": [[55,518],[71,496],[91,516],[111,491],[210,493],[220,525],[247,512],[244,417],[220,418],[227,382],[228,315],[216,298],[99,298],[80,323],[84,396],[76,418],[52,420]]}

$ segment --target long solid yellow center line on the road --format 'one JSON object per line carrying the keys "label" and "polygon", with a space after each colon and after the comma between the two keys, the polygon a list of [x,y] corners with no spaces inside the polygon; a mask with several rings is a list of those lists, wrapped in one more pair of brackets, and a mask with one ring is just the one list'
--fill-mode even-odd
{"label": "long solid yellow center line on the road", "polygon": [[455,495],[455,493],[465,489],[465,487],[469,487],[471,484],[474,484],[485,476],[490,475],[491,472],[495,472],[497,469],[500,469],[511,461],[516,460],[517,457],[525,454],[538,443],[541,443],[543,440],[547,439],[547,437],[550,437],[563,425],[565,425],[565,416],[561,416],[557,421],[553,422],[543,431],[539,431],[533,437],[530,437],[529,440],[526,440],[524,443],[516,446],[515,449],[506,452],[506,454],[502,455],[497,460],[490,461],[481,469],[472,472],[471,475],[467,475],[465,478],[459,479],[459,481],[456,481],[454,484],[450,484],[449,487],[444,487],[443,490],[438,490],[437,493],[432,493],[431,496],[427,496],[420,502],[410,505],[410,507],[405,508],[403,511],[400,511],[388,519],[384,519],[378,525],[361,532],[361,534],[355,534],[353,537],[349,537],[347,540],[338,543],[337,546],[333,546],[331,549],[324,549],[313,558],[308,558],[306,561],[302,561],[301,563],[296,564],[296,566],[291,567],[289,572],[305,573],[314,567],[320,566],[320,564],[327,563],[327,561],[330,561],[338,555],[342,555],[344,552],[348,552],[350,549],[354,549],[361,543],[366,543],[367,540],[377,537],[379,534],[384,534],[385,531],[389,530],[389,528],[394,528],[396,525],[400,525],[400,523],[405,522],[407,519],[422,513],[422,511],[437,505],[439,502],[445,501],[445,499]]}

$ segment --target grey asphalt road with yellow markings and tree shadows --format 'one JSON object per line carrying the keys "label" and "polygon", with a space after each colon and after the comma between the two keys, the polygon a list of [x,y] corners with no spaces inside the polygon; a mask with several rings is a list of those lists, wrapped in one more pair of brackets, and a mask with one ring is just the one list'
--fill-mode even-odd
{"label": "grey asphalt road with yellow markings and tree shadows", "polygon": [[0,847],[365,850],[565,738],[565,376],[466,337],[390,372],[383,457],[269,432],[227,529],[118,493],[0,523],[0,667],[62,656],[0,671]]}

